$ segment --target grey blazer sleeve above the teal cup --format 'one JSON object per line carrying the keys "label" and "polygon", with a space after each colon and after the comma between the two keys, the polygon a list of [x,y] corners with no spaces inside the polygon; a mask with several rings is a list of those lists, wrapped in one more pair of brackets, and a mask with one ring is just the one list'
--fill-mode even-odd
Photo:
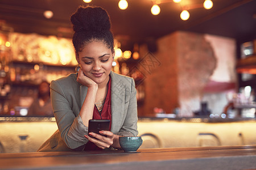
{"label": "grey blazer sleeve above the teal cup", "polygon": [[[133,78],[131,79],[130,87],[130,97],[128,101],[127,113],[125,117],[125,121],[123,122],[122,128],[119,130],[118,135],[122,136],[137,136],[137,121],[138,121],[138,111],[137,111],[137,98],[136,98],[136,88],[135,82]],[[126,102],[127,104],[127,102]],[[126,105],[125,104],[125,105]]]}

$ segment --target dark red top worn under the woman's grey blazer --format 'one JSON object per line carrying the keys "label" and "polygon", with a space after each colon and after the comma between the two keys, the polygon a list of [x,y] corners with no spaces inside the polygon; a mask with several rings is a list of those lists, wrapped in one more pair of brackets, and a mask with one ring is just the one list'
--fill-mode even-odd
{"label": "dark red top worn under the woman's grey blazer", "polygon": [[[102,108],[101,113],[98,112],[96,105],[94,105],[93,119],[96,120],[110,120],[109,131],[111,129],[111,78],[109,76],[108,92]],[[87,142],[84,151],[102,150],[92,142]]]}

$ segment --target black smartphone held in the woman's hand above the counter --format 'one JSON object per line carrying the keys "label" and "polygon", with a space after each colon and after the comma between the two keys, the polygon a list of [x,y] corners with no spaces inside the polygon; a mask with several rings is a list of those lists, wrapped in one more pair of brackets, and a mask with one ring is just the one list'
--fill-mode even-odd
{"label": "black smartphone held in the woman's hand above the counter", "polygon": [[89,120],[88,134],[90,132],[100,134],[99,131],[109,131],[110,120]]}

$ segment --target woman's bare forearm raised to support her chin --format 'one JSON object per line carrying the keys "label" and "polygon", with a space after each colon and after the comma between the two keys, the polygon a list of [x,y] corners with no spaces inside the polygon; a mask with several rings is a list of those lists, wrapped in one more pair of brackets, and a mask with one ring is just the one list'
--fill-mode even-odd
{"label": "woman's bare forearm raised to support her chin", "polygon": [[92,86],[88,88],[84,103],[82,104],[82,108],[79,113],[83,124],[87,127],[88,127],[88,121],[93,117],[93,109],[94,109],[97,90],[98,90],[98,86]]}

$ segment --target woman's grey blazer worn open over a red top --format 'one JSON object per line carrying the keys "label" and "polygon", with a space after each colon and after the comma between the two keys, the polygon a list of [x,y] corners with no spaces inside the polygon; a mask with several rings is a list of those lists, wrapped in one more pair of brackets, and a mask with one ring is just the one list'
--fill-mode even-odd
{"label": "woman's grey blazer worn open over a red top", "polygon": [[[111,131],[125,136],[138,135],[137,99],[134,79],[111,71]],[[69,74],[51,82],[51,101],[58,130],[38,151],[69,151],[88,142],[84,135],[88,127],[82,123],[79,112],[88,87]]]}

